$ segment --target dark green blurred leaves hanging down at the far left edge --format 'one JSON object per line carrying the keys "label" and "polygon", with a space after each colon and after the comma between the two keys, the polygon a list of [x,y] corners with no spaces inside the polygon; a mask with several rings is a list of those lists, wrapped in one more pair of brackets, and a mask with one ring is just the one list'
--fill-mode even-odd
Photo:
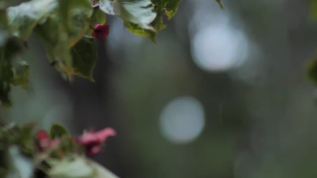
{"label": "dark green blurred leaves hanging down at the far left edge", "polygon": [[10,85],[28,87],[29,66],[22,60],[21,53],[25,46],[17,37],[11,37],[0,48],[0,102],[9,106]]}

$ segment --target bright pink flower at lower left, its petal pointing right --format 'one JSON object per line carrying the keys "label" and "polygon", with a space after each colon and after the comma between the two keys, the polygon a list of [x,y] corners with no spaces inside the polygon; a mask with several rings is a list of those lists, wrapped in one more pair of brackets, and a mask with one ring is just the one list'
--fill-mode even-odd
{"label": "bright pink flower at lower left, its petal pointing right", "polygon": [[107,137],[115,134],[112,128],[106,128],[98,132],[87,132],[78,138],[78,142],[84,145],[88,155],[95,155],[100,152],[102,143],[106,141]]}

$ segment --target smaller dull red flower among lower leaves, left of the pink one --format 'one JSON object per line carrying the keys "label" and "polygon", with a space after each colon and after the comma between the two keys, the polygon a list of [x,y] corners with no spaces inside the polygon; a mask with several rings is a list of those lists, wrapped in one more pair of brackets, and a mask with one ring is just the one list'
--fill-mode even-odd
{"label": "smaller dull red flower among lower leaves, left of the pink one", "polygon": [[49,134],[44,130],[40,130],[37,132],[36,139],[37,139],[38,149],[41,152],[45,152],[46,150],[59,144],[59,139],[51,140],[49,137]]}

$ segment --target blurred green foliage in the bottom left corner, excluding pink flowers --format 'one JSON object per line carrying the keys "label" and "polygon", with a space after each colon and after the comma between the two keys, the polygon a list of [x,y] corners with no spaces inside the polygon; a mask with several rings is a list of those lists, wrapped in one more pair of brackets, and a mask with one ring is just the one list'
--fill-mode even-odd
{"label": "blurred green foliage in the bottom left corner, excluding pink flowers", "polygon": [[[65,128],[52,125],[51,137],[57,145],[40,150],[50,140],[34,135],[34,124],[0,127],[1,178],[117,178],[84,156],[80,143]],[[53,140],[51,140],[53,141]]]}

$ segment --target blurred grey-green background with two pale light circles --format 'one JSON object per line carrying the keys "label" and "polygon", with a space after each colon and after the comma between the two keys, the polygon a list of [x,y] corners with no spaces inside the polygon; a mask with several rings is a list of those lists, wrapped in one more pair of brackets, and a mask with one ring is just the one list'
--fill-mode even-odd
{"label": "blurred grey-green background with two pale light circles", "polygon": [[[112,127],[94,157],[121,178],[316,178],[317,47],[309,0],[183,0],[157,45],[107,16],[96,83],[62,80],[32,36],[30,89],[7,121]],[[316,10],[317,8],[315,8]]]}

